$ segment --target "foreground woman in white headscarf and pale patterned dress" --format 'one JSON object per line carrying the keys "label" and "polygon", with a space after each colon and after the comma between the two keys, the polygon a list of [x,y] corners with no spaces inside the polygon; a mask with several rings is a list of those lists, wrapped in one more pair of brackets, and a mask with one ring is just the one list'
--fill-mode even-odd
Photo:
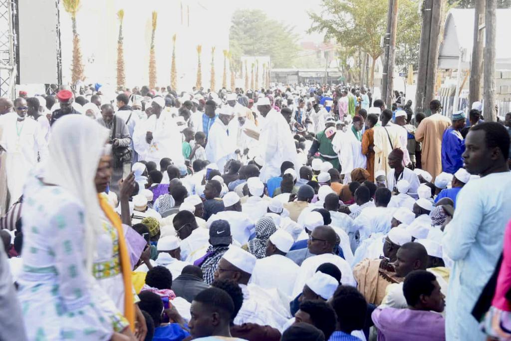
{"label": "foreground woman in white headscarf and pale patterned dress", "polygon": [[25,187],[18,297],[29,339],[132,338],[126,319],[92,277],[101,228],[94,179],[107,139],[108,130],[88,118],[63,117],[52,127],[44,171]]}

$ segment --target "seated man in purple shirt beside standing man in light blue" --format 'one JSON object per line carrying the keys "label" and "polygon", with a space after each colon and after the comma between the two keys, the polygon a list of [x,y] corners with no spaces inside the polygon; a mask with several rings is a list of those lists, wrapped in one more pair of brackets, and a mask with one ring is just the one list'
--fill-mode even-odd
{"label": "seated man in purple shirt beside standing man in light blue", "polygon": [[[403,294],[407,309],[377,308],[371,315],[379,340],[445,340],[445,296],[429,271],[411,271]],[[410,328],[412,326],[412,328]]]}

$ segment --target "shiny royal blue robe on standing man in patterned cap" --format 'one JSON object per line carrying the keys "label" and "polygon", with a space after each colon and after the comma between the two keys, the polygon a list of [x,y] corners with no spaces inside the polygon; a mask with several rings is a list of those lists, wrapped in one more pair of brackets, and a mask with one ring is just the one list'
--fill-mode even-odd
{"label": "shiny royal blue robe on standing man in patterned cap", "polygon": [[463,167],[465,143],[461,133],[453,128],[447,128],[442,137],[442,170],[454,174]]}

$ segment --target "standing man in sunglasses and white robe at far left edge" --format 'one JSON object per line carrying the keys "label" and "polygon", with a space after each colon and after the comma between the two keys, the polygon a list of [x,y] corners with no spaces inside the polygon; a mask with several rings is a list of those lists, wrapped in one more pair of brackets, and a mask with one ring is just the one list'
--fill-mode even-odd
{"label": "standing man in sunglasses and white robe at far left edge", "polygon": [[7,152],[6,173],[10,202],[23,192],[29,172],[48,154],[48,145],[39,123],[27,117],[28,106],[24,98],[14,101],[16,115],[0,121],[3,130],[0,145]]}

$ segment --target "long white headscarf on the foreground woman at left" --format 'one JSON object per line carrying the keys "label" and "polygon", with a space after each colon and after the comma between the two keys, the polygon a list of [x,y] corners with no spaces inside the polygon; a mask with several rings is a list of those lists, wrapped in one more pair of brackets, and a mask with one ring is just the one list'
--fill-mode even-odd
{"label": "long white headscarf on the foreground woman at left", "polygon": [[85,251],[89,273],[101,209],[94,179],[108,139],[108,129],[85,115],[66,115],[52,126],[44,181],[65,188],[85,209]]}

